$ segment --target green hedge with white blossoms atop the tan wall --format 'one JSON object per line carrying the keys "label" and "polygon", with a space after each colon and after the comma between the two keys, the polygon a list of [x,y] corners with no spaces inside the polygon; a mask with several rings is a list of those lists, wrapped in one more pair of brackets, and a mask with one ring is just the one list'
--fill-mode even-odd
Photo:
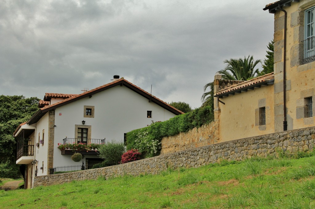
{"label": "green hedge with white blossoms atop the tan wall", "polygon": [[150,126],[130,131],[127,133],[127,150],[138,149],[146,158],[157,156],[161,150],[163,137],[173,136],[210,123],[214,119],[212,112],[210,106],[200,107],[167,121],[153,122]]}

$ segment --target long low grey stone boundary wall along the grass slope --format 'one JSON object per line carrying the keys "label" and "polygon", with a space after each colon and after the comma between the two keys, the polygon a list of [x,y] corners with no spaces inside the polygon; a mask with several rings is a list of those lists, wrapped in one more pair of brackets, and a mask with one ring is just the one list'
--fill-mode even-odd
{"label": "long low grey stone boundary wall along the grass slope", "polygon": [[33,186],[55,185],[72,180],[91,180],[97,179],[99,176],[104,176],[107,179],[126,174],[135,176],[145,173],[159,174],[160,171],[168,168],[197,168],[215,163],[218,159],[243,160],[254,156],[266,157],[268,154],[274,153],[276,148],[289,153],[298,150],[311,150],[314,147],[314,139],[315,127],[283,131],[192,148],[111,167],[37,176],[34,178]]}

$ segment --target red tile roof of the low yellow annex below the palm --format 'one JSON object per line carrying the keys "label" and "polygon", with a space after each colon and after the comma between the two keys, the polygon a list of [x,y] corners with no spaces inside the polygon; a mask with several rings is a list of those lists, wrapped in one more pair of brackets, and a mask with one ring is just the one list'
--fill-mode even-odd
{"label": "red tile roof of the low yellow annex below the palm", "polygon": [[229,86],[227,88],[223,88],[223,89],[221,89],[219,91],[219,93],[216,93],[215,96],[219,96],[221,94],[224,94],[224,93],[227,93],[227,92],[231,92],[231,91],[235,91],[235,90],[238,90],[238,89],[249,88],[249,87],[251,87],[254,84],[262,83],[262,82],[265,82],[265,81],[270,81],[272,79],[274,79],[273,72],[268,73],[268,74],[263,75],[263,76],[260,76],[260,77],[257,77],[257,78],[253,78],[253,79],[248,80],[248,81],[244,81],[242,83],[238,83],[238,84]]}

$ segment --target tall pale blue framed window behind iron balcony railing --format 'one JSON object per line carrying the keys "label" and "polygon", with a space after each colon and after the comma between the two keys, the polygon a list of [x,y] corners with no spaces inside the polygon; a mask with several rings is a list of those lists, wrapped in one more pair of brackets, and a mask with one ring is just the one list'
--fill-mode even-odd
{"label": "tall pale blue framed window behind iron balcony railing", "polygon": [[314,57],[314,35],[315,35],[315,21],[314,21],[314,10],[310,8],[305,11],[305,40],[303,41],[304,46],[304,59],[303,64],[314,61],[310,57]]}

